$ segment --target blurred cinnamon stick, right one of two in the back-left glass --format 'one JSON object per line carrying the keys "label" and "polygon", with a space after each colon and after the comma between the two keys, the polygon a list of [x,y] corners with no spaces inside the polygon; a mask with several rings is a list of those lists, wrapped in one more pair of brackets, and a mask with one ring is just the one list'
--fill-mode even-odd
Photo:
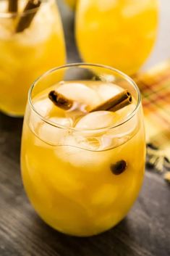
{"label": "blurred cinnamon stick, right one of two in the back-left glass", "polygon": [[[25,6],[25,9],[23,10],[23,15],[20,17],[20,20],[17,24],[16,32],[20,33],[25,28],[28,28],[30,26],[30,23],[32,22],[34,16],[38,12],[38,7],[41,5],[41,0],[29,0],[27,1],[27,4]],[[29,10],[34,10],[33,12],[28,12]]]}

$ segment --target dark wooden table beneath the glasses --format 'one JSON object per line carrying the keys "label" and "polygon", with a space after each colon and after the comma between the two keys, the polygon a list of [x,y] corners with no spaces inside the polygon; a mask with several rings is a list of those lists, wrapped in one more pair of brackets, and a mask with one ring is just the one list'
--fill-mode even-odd
{"label": "dark wooden table beneath the glasses", "polygon": [[[72,14],[61,9],[69,62],[78,61]],[[0,114],[0,256],[170,255],[170,186],[149,171],[127,218],[104,234],[76,238],[60,234],[43,223],[22,187],[21,131],[22,119]]]}

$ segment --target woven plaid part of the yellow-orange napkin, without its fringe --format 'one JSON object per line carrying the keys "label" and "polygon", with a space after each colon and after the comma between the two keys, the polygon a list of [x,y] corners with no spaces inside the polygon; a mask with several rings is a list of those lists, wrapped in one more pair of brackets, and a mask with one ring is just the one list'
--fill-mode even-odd
{"label": "woven plaid part of the yellow-orange napkin, without its fringe", "polygon": [[135,77],[143,96],[147,141],[170,159],[170,61]]}

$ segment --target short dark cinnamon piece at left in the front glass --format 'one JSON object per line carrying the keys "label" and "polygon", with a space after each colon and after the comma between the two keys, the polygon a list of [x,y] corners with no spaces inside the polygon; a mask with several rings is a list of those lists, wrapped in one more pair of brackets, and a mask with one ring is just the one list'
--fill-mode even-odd
{"label": "short dark cinnamon piece at left in the front glass", "polygon": [[74,104],[72,99],[67,99],[64,95],[59,94],[56,91],[51,91],[48,94],[49,99],[57,106],[63,110],[69,110]]}

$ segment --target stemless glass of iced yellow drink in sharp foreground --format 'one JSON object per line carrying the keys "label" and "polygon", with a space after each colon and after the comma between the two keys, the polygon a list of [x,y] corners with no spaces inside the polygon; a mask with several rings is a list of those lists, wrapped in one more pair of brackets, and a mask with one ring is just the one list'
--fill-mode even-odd
{"label": "stemless glass of iced yellow drink in sharp foreground", "polygon": [[[48,98],[54,89],[91,107],[127,89],[132,104],[75,118]],[[114,68],[90,64],[57,67],[35,80],[21,165],[27,197],[51,227],[92,236],[115,226],[135,202],[144,176],[143,111],[135,82]]]}

